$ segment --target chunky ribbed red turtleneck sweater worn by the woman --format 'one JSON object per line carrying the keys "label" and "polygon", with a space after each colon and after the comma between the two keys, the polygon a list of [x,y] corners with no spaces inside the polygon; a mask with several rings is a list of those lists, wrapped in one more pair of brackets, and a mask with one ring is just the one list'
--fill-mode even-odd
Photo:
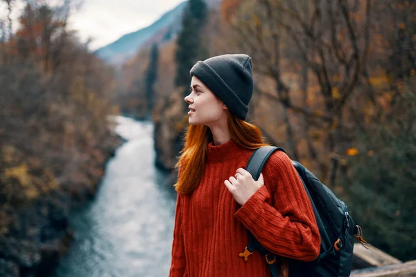
{"label": "chunky ribbed red turtleneck sweater worn by the woman", "polygon": [[[247,229],[272,253],[314,260],[320,235],[311,202],[291,160],[277,151],[266,162],[264,186],[241,208],[224,184],[245,168],[253,150],[234,141],[208,145],[200,184],[189,195],[177,194],[171,277],[270,276],[266,260],[254,251],[245,262]],[[287,266],[281,260],[287,276]]]}

